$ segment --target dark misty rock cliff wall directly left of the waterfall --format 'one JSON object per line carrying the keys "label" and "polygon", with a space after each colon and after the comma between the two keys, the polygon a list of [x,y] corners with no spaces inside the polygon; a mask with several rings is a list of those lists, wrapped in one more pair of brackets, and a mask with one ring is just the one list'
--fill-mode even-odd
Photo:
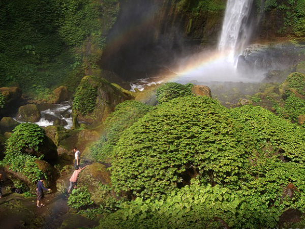
{"label": "dark misty rock cliff wall directly left of the waterfall", "polygon": [[167,69],[177,58],[217,44],[225,0],[121,0],[100,65],[124,80]]}

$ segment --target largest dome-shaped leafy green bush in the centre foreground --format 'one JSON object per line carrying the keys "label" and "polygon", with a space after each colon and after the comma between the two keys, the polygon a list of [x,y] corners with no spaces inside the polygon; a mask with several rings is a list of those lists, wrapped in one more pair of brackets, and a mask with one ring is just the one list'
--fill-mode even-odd
{"label": "largest dome-shaped leafy green bush in the centre foreground", "polygon": [[234,186],[249,166],[246,137],[217,101],[173,99],[124,131],[114,148],[113,187],[131,195],[159,196],[196,175],[211,185]]}

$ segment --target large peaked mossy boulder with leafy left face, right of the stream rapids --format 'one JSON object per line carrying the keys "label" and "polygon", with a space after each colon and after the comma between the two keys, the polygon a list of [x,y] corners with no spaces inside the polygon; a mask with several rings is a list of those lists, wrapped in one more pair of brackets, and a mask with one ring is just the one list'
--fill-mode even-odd
{"label": "large peaked mossy boulder with leafy left face, right of the stream rapids", "polygon": [[103,122],[114,107],[133,97],[106,79],[94,76],[82,78],[74,97],[73,117],[88,125]]}

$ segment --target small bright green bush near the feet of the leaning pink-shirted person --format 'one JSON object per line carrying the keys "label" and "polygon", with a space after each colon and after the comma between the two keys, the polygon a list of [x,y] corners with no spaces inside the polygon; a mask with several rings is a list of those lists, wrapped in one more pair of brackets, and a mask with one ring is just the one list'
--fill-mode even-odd
{"label": "small bright green bush near the feet of the leaning pink-shirted person", "polygon": [[73,189],[72,194],[68,198],[68,206],[77,210],[87,208],[92,204],[91,195],[88,189],[84,187]]}

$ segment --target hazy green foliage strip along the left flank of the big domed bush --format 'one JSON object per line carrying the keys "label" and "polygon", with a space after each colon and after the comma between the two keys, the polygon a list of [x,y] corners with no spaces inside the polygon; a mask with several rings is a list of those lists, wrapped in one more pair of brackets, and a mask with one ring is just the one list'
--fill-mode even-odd
{"label": "hazy green foliage strip along the left flank of the big domed bush", "polygon": [[90,146],[93,158],[97,161],[103,161],[106,158],[110,160],[113,156],[113,147],[123,130],[129,128],[152,109],[153,107],[135,100],[127,100],[118,104],[105,122],[105,135]]}

